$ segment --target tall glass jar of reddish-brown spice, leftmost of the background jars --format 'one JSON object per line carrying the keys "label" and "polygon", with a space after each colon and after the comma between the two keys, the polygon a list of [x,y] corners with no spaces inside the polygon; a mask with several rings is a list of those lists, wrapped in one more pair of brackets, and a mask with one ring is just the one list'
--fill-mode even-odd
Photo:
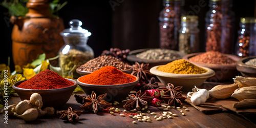
{"label": "tall glass jar of reddish-brown spice, leftmost of the background jars", "polygon": [[164,0],[159,15],[160,48],[178,50],[180,17],[184,0]]}

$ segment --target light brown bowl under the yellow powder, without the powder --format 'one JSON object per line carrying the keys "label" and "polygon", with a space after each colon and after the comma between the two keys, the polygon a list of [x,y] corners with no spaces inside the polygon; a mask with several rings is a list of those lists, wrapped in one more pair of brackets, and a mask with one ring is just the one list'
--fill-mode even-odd
{"label": "light brown bowl under the yellow powder, without the powder", "polygon": [[209,68],[201,67],[207,70],[206,73],[200,74],[175,74],[166,73],[157,70],[159,66],[155,66],[150,69],[150,72],[157,76],[157,78],[166,86],[167,83],[174,84],[175,87],[182,86],[183,91],[191,91],[194,86],[201,86],[201,84],[209,77],[214,76],[214,70]]}

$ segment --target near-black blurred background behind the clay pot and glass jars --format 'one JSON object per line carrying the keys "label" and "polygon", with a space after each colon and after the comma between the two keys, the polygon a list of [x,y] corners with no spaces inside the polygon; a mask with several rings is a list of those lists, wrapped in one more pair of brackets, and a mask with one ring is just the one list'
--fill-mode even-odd
{"label": "near-black blurred background behind the clay pot and glass jars", "polygon": [[[65,1],[60,0],[60,3],[63,2]],[[205,3],[206,6],[197,8],[199,2]],[[235,37],[240,17],[254,16],[254,8],[253,0],[233,1],[232,11],[236,14]],[[71,19],[82,21],[82,28],[92,33],[88,45],[97,57],[103,50],[109,50],[111,47],[130,50],[159,48],[158,16],[162,9],[161,0],[68,0],[68,4],[58,12],[58,15],[63,19],[65,28],[69,28],[68,23]],[[200,51],[204,51],[204,18],[208,9],[208,0],[185,1],[184,10],[195,12],[199,16]],[[13,71],[13,25],[9,22],[8,10],[0,6],[0,12],[0,63],[7,64],[10,56],[10,68]]]}

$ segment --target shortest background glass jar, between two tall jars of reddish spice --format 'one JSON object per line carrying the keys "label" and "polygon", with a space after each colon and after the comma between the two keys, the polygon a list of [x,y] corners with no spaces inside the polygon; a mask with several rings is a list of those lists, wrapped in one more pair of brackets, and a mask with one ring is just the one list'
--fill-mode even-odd
{"label": "shortest background glass jar, between two tall jars of reddish spice", "polygon": [[181,17],[179,34],[179,51],[182,53],[199,52],[198,16],[187,15]]}

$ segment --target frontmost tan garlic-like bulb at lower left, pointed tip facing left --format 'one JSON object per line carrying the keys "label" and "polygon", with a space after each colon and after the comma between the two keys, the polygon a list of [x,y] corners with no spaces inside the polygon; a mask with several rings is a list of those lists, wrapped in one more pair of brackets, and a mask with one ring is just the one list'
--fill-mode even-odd
{"label": "frontmost tan garlic-like bulb at lower left, pointed tip facing left", "polygon": [[34,121],[38,117],[38,111],[34,108],[26,110],[22,115],[18,115],[16,112],[13,114],[16,117],[22,118],[26,121]]}

